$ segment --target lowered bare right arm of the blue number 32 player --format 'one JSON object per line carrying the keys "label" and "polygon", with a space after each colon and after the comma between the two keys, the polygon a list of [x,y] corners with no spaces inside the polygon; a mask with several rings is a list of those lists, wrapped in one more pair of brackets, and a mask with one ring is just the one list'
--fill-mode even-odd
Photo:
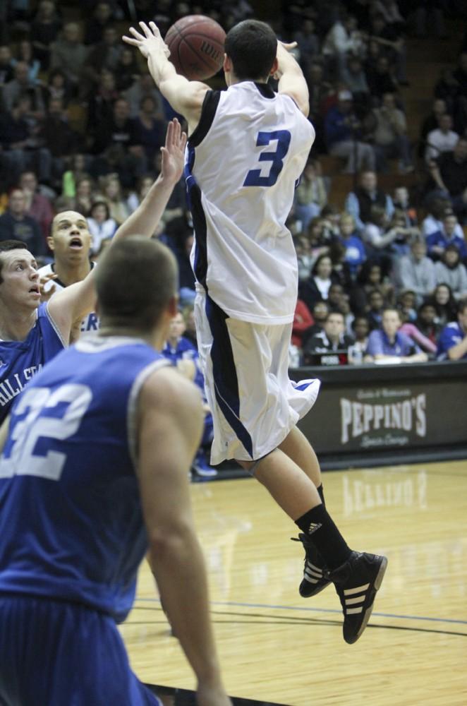
{"label": "lowered bare right arm of the blue number 32 player", "polygon": [[147,379],[138,410],[138,479],[152,573],[198,679],[198,703],[227,706],[230,700],[214,645],[205,563],[193,525],[187,477],[202,433],[201,397],[192,383],[165,368]]}

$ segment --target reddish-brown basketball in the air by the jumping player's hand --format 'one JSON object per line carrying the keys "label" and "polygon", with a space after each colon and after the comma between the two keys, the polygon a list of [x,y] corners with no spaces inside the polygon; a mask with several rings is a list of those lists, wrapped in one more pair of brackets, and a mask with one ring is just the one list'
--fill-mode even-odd
{"label": "reddish-brown basketball in the air by the jumping player's hand", "polygon": [[189,80],[214,76],[224,61],[225,32],[215,20],[188,15],[167,30],[165,43],[177,73]]}

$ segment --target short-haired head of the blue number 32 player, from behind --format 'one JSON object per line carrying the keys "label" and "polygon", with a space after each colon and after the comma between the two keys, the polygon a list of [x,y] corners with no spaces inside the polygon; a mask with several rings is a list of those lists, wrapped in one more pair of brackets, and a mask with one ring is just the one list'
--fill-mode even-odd
{"label": "short-haired head of the blue number 32 player, from behind", "polygon": [[174,255],[140,235],[112,244],[95,277],[102,327],[149,331],[178,291]]}

